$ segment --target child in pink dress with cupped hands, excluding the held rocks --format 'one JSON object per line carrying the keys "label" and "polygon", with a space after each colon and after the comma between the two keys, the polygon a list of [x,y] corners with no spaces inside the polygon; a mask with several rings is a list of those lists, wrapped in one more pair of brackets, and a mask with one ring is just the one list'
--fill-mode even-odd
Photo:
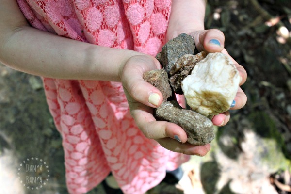
{"label": "child in pink dress with cupped hands, excluding the held rocks", "polygon": [[[227,53],[222,32],[204,31],[204,0],[16,1],[0,0],[0,61],[43,78],[70,193],[86,193],[112,172],[125,194],[142,194],[188,155],[209,151],[155,120],[162,94],[143,80],[161,68],[154,56],[162,45],[182,32],[199,51]],[[246,72],[236,66],[242,84]],[[241,89],[235,101],[232,109],[244,106]],[[212,122],[228,120],[226,112]]]}

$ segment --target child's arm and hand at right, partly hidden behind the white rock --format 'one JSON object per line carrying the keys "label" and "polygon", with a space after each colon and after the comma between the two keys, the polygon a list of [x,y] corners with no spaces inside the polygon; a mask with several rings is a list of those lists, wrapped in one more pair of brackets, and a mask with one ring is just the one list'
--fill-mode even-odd
{"label": "child's arm and hand at right, partly hidden behind the white rock", "polygon": [[[205,16],[205,0],[172,0],[172,9],[167,31],[167,39],[172,39],[180,33],[187,33],[194,38],[195,46],[199,51],[205,50],[208,52],[223,52],[228,54],[224,49],[225,36],[223,32],[217,29],[204,30]],[[246,71],[233,60],[236,65],[242,81],[242,85],[246,81]],[[235,97],[236,104],[231,109],[240,109],[246,103],[246,95],[239,88]],[[214,125],[226,125],[229,121],[229,113],[223,113],[214,116],[212,122]]]}

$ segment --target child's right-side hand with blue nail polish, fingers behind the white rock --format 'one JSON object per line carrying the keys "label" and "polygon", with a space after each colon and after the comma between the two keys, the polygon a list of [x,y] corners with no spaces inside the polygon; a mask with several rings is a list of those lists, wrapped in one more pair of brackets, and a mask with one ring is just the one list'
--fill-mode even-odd
{"label": "child's right-side hand with blue nail polish, fingers behind the white rock", "polygon": [[[204,30],[204,31],[195,31],[188,34],[193,36],[195,46],[199,52],[204,50],[208,52],[222,52],[228,55],[226,49],[224,49],[225,36],[223,32],[216,29],[212,29],[212,30]],[[234,59],[232,60],[242,77],[242,80],[240,83],[240,85],[242,85],[246,81],[246,77],[247,77],[246,71]],[[231,109],[241,109],[245,105],[247,97],[243,93],[241,87],[239,87],[238,93],[234,100],[235,100],[235,104],[234,104],[234,107],[232,107]],[[217,126],[224,126],[226,125],[228,121],[229,121],[228,111],[225,113],[216,115],[212,119],[213,124]]]}

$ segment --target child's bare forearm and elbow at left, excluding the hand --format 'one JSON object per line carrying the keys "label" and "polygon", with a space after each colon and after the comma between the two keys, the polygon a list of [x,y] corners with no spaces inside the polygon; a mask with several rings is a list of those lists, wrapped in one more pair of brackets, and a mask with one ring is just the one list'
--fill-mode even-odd
{"label": "child's bare forearm and elbow at left, excluding the hand", "polygon": [[15,0],[0,4],[0,61],[11,68],[51,78],[120,81],[120,64],[141,54],[34,29]]}

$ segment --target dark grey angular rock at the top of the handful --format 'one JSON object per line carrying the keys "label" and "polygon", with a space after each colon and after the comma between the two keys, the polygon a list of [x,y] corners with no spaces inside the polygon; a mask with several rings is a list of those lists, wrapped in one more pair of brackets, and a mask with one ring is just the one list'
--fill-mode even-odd
{"label": "dark grey angular rock at the top of the handful", "polygon": [[194,51],[198,53],[197,49],[195,49],[193,37],[182,33],[167,42],[156,58],[168,72],[181,56],[185,54],[196,54]]}

